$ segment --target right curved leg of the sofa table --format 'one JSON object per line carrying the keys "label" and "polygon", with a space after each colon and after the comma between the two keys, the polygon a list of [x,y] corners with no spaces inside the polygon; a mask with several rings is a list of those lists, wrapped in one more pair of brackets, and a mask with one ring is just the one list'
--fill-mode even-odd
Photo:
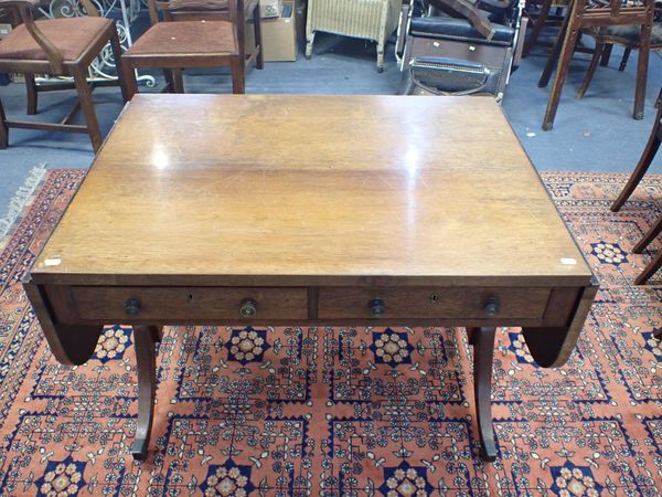
{"label": "right curved leg of the sofa table", "polygon": [[480,457],[496,461],[496,445],[492,427],[492,361],[496,328],[468,328],[469,342],[473,346],[473,392],[480,434]]}

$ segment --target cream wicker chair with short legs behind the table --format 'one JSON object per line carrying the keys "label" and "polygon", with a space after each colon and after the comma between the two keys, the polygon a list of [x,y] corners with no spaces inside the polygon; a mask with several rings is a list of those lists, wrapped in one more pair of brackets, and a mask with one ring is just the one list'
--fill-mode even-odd
{"label": "cream wicker chair with short legs behind the table", "polygon": [[399,17],[402,0],[308,0],[306,59],[312,55],[314,33],[341,34],[377,42],[377,71],[384,71],[384,45]]}

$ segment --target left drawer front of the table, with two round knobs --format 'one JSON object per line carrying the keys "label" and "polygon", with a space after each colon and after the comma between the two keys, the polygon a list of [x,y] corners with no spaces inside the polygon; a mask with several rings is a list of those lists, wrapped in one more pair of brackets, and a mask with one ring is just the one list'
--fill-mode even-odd
{"label": "left drawer front of the table, with two round knobs", "polygon": [[306,288],[75,286],[83,319],[306,319]]}

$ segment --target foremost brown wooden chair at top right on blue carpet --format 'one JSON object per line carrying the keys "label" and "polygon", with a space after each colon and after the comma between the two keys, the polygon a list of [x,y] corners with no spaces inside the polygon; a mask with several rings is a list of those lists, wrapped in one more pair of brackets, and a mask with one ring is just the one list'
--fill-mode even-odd
{"label": "foremost brown wooden chair at top right on blue carpet", "polygon": [[[556,75],[549,93],[547,109],[543,119],[543,129],[554,126],[558,101],[566,75],[570,67],[573,52],[577,45],[579,33],[586,29],[599,29],[613,25],[633,25],[639,30],[639,65],[637,68],[637,87],[634,92],[634,119],[643,118],[645,98],[645,78],[648,74],[651,30],[653,27],[653,0],[630,0],[622,4],[621,0],[574,0],[555,47],[547,60],[538,82],[540,87],[547,86],[554,64],[558,60]],[[562,44],[563,42],[563,44]]]}

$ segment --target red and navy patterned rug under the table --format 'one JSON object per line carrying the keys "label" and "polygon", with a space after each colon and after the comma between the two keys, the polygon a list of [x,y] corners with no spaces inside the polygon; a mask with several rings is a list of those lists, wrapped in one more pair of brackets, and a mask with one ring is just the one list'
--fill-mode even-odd
{"label": "red and navy patterned rug under the table", "polygon": [[632,286],[651,252],[630,253],[662,176],[616,214],[626,176],[544,176],[601,289],[564,368],[498,331],[493,464],[476,456],[463,329],[216,327],[166,329],[151,453],[134,463],[130,329],[62,367],[18,284],[83,176],[49,172],[0,255],[0,495],[662,494],[662,274]]}

